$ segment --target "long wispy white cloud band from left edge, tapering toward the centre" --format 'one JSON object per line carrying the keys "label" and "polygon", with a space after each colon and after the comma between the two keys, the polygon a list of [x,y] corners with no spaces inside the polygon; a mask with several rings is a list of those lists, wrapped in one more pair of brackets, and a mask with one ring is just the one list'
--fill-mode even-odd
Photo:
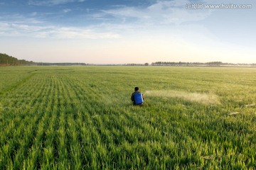
{"label": "long wispy white cloud band from left edge, tapering toward the centre", "polygon": [[[65,12],[70,11],[68,8]],[[55,38],[55,39],[109,39],[120,35],[99,27],[57,26],[40,21],[38,13],[0,16],[0,35],[6,37]]]}

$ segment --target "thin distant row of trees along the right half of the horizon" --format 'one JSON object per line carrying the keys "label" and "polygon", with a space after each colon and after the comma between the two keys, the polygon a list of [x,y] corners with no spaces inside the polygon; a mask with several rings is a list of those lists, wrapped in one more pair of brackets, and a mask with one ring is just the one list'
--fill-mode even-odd
{"label": "thin distant row of trees along the right half of the horizon", "polygon": [[228,62],[152,62],[152,66],[208,66],[208,67],[256,67],[256,64],[234,64]]}

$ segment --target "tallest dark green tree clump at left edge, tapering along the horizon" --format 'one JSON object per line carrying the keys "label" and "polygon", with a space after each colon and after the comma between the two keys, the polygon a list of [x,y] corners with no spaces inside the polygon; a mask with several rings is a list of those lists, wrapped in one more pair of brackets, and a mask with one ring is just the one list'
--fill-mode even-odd
{"label": "tallest dark green tree clump at left edge, tapering along the horizon", "polygon": [[19,66],[19,65],[35,65],[35,62],[28,62],[26,60],[18,60],[6,54],[0,53],[0,66]]}

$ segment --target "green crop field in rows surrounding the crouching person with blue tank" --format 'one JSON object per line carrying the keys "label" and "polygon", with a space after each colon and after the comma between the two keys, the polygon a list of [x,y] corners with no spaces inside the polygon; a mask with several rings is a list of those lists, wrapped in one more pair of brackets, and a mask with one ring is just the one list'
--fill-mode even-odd
{"label": "green crop field in rows surrounding the crouching person with blue tank", "polygon": [[0,79],[0,169],[256,167],[256,69],[0,67]]}

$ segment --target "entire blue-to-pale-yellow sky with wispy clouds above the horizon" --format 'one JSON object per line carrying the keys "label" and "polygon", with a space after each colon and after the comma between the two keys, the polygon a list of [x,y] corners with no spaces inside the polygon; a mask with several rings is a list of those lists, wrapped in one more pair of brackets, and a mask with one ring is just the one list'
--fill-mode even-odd
{"label": "entire blue-to-pale-yellow sky with wispy clouds above the horizon", "polygon": [[256,63],[255,0],[0,0],[0,53],[33,62]]}

